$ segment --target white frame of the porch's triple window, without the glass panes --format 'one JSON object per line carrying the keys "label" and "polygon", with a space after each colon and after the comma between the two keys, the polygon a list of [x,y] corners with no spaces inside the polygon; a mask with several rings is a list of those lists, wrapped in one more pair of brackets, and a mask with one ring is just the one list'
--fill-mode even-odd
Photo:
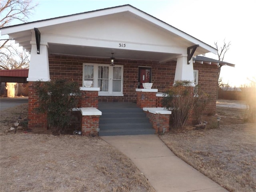
{"label": "white frame of the porch's triple window, without the glass panes", "polygon": [[[115,65],[110,66],[108,64],[92,64],[92,63],[83,63],[83,87],[84,87],[84,66],[90,65],[94,66],[94,79],[93,79],[93,87],[98,87],[98,66],[108,66],[108,92],[106,91],[99,91],[98,96],[124,96],[123,94],[123,81],[124,81],[124,66],[122,65]],[[120,92],[113,92],[113,69],[114,67],[121,67],[121,91]]]}

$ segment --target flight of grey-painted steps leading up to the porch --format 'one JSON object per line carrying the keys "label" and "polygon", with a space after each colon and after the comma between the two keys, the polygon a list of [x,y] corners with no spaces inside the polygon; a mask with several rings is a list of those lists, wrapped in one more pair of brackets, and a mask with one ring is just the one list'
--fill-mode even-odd
{"label": "flight of grey-painted steps leading up to the porch", "polygon": [[99,136],[155,134],[142,109],[134,103],[99,103]]}

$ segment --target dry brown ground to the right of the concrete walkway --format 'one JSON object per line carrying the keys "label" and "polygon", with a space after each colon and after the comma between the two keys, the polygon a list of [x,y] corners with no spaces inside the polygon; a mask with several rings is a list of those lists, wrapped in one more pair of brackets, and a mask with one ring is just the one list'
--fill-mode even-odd
{"label": "dry brown ground to the right of the concrete walkway", "polygon": [[178,157],[230,192],[255,192],[256,124],[244,123],[240,107],[221,106],[216,111],[215,116],[203,116],[208,122],[205,129],[190,127],[160,138]]}

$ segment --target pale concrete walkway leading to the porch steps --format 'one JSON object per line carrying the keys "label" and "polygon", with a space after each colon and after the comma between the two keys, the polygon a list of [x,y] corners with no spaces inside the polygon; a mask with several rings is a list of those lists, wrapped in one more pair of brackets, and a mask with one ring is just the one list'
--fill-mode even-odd
{"label": "pale concrete walkway leading to the porch steps", "polygon": [[156,135],[101,138],[128,156],[157,192],[228,192],[175,156]]}

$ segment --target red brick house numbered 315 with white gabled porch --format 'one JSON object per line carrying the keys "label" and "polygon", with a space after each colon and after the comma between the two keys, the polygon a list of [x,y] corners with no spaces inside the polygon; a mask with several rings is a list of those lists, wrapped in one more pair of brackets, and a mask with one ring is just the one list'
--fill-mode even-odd
{"label": "red brick house numbered 315 with white gabled porch", "polygon": [[[33,111],[34,82],[60,77],[78,81],[87,94],[81,109],[84,134],[98,128],[102,114],[98,102],[136,102],[140,108],[155,108],[156,95],[177,80],[190,80],[191,88],[199,84],[212,96],[206,113],[215,114],[218,64],[193,60],[193,56],[216,54],[216,49],[131,5],[1,31],[31,55],[27,78],[30,128],[47,126],[46,116]],[[88,81],[92,87],[85,87]],[[144,82],[152,82],[152,89],[143,89]],[[83,127],[90,123],[85,131]]]}

